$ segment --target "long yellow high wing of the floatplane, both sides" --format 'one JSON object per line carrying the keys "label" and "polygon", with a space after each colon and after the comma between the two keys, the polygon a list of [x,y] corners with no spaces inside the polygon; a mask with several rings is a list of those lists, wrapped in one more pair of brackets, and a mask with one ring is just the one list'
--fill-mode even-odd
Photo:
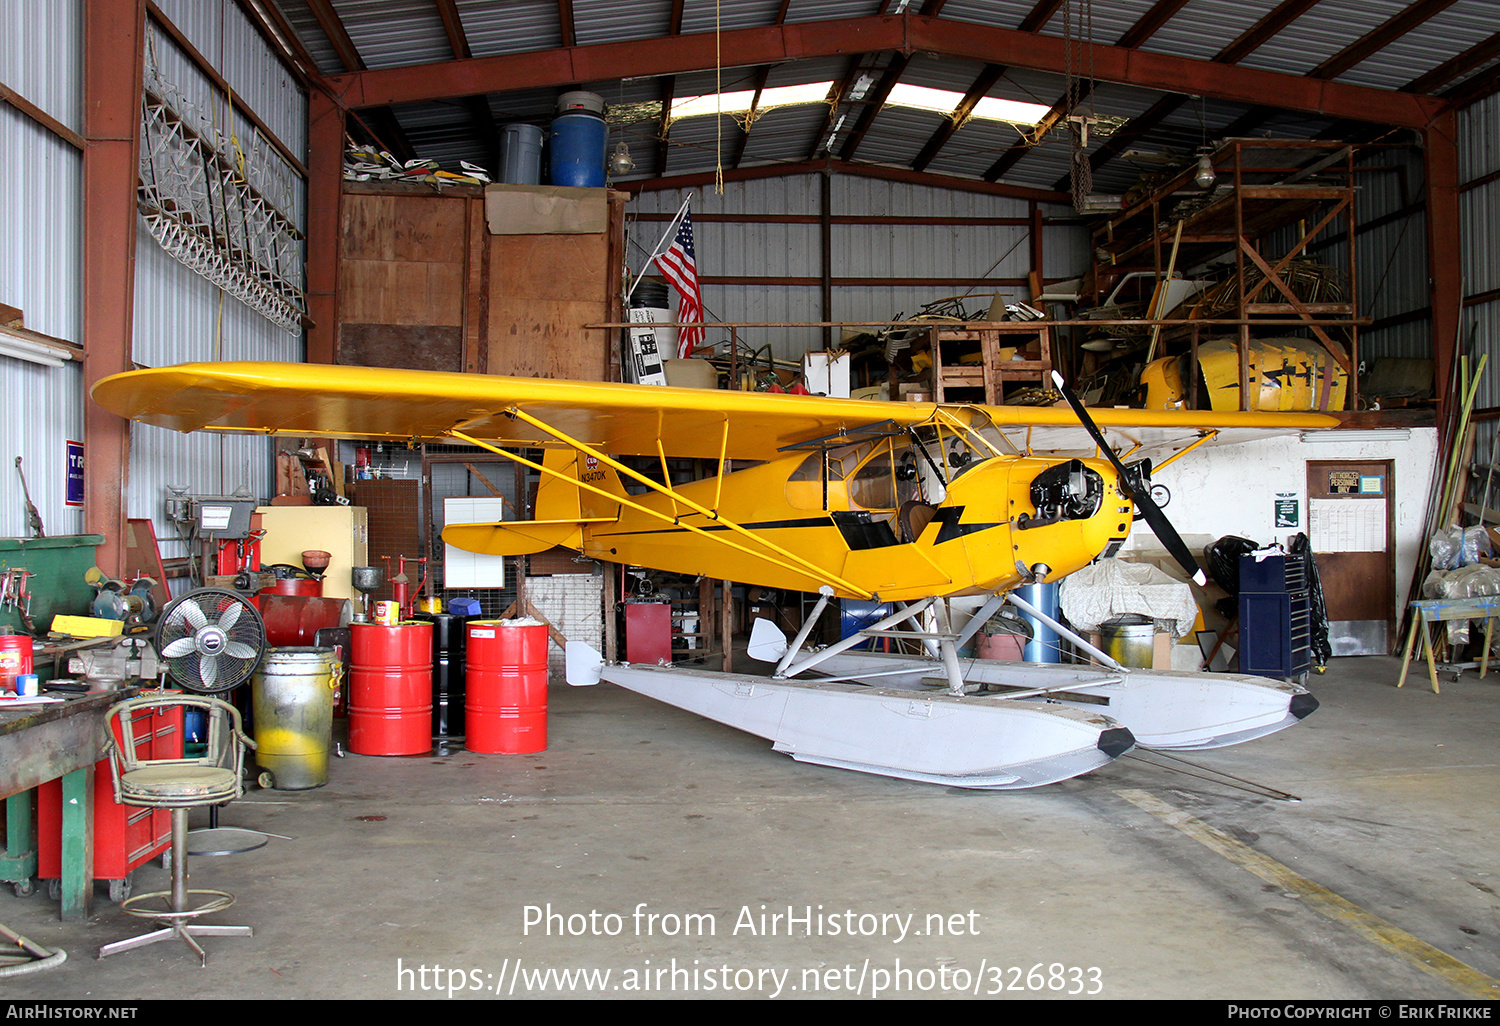
{"label": "long yellow high wing of the floatplane, both sides", "polygon": [[[106,410],[174,430],[315,438],[436,441],[458,430],[495,446],[556,444],[520,411],[615,454],[772,459],[788,446],[882,426],[927,423],[932,404],[670,388],[600,381],[504,378],[309,363],[184,363],[98,382]],[[1022,452],[1092,454],[1074,414],[1059,406],[981,406]],[[1134,442],[1182,448],[1203,432],[1222,441],[1334,428],[1324,414],[1090,411],[1125,453]]]}

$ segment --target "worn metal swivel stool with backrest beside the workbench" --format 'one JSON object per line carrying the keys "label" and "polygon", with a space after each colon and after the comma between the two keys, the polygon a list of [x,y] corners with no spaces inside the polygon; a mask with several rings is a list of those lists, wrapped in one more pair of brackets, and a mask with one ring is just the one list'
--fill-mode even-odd
{"label": "worn metal swivel stool with backrest beside the workbench", "polygon": [[[135,710],[183,705],[201,708],[208,716],[207,744],[196,759],[141,759],[130,720]],[[111,732],[106,740],[110,770],[114,776],[114,798],[124,806],[171,808],[172,812],[172,885],[170,891],[138,894],[120,903],[126,915],[156,920],[159,930],[99,948],[99,957],[142,948],[168,938],[182,938],[198,952],[200,963],[208,964],[208,954],[194,940],[202,938],[248,938],[250,927],[206,926],[190,922],[210,912],[222,912],[234,904],[228,891],[188,890],[188,810],[196,806],[218,806],[244,794],[244,748],[255,741],[244,735],[240,711],[228,702],[201,694],[136,698],[110,710]],[[142,738],[141,741],[144,741]]]}

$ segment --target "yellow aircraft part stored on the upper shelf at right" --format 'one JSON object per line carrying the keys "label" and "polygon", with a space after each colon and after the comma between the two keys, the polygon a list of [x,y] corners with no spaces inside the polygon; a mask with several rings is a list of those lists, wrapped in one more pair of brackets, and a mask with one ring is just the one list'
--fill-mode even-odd
{"label": "yellow aircraft part stored on the upper shelf at right", "polygon": [[[1188,357],[1164,357],[1140,372],[1146,410],[1178,410],[1188,398],[1182,372]],[[1251,410],[1287,412],[1342,410],[1348,372],[1310,339],[1251,339],[1248,354]],[[1198,368],[1206,382],[1202,393],[1212,410],[1239,410],[1239,345],[1215,339],[1198,346]],[[1202,387],[1203,382],[1200,382]],[[1200,399],[1202,402],[1202,399]]]}

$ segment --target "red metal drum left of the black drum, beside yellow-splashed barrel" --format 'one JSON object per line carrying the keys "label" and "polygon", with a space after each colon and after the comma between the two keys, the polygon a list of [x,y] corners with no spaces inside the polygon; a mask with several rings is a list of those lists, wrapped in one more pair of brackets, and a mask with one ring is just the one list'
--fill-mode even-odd
{"label": "red metal drum left of the black drum, beside yellow-splashed barrel", "polygon": [[350,624],[350,752],[432,750],[432,624]]}

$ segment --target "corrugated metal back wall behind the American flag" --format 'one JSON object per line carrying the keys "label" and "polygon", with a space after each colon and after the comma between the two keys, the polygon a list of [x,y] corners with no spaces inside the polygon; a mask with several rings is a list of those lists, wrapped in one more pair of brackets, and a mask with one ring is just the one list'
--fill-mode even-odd
{"label": "corrugated metal back wall behind the American flag", "polygon": [[[648,192],[630,202],[634,213],[676,213],[686,192]],[[818,176],[794,176],[758,182],[730,182],[723,195],[712,188],[693,190],[692,210],[705,213],[818,214]],[[1026,218],[1024,200],[988,196],[951,189],[916,188],[902,183],[834,176],[831,213],[836,216],[914,218]],[[1044,207],[1042,216],[1071,213]],[[639,272],[666,224],[632,222],[628,262]],[[819,226],[816,224],[694,222],[698,273],[819,278]],[[1024,278],[1030,270],[1030,231],[1024,225],[834,225],[834,278]],[[1082,274],[1088,266],[1088,234],[1076,226],[1044,231],[1047,278]],[[834,321],[885,321],[912,315],[922,304],[970,290],[964,286],[844,285],[832,291]],[[974,288],[966,306],[982,312],[996,290]],[[1006,288],[1022,297],[1023,288]],[[705,285],[704,303],[710,320],[720,321],[820,321],[819,285]],[[674,300],[675,303],[675,300]],[[728,332],[710,332],[710,340]],[[766,344],[777,358],[798,360],[822,346],[816,328],[747,328],[741,339],[752,348]]]}

